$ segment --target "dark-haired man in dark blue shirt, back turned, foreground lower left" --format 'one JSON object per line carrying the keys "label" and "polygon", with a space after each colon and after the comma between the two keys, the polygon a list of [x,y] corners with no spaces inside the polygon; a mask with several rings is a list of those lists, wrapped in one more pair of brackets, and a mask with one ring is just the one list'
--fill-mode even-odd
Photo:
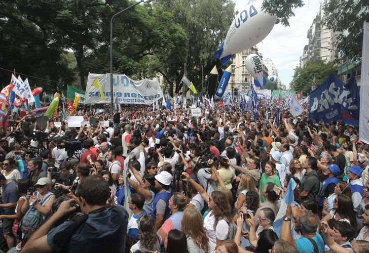
{"label": "dark-haired man in dark blue shirt, back turned, foreground lower left", "polygon": [[[22,252],[124,252],[128,213],[115,205],[108,184],[98,176],[90,176],[80,183],[78,192],[83,215],[57,226],[77,208],[75,199],[62,202],[56,213],[34,232]],[[108,199],[113,206],[109,209],[105,207]]]}

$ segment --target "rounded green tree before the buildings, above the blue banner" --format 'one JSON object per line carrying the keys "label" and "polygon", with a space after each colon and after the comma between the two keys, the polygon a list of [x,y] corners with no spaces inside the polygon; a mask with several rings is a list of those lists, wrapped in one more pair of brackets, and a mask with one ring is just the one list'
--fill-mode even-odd
{"label": "rounded green tree before the buildings, above the blue banner", "polygon": [[303,94],[309,94],[313,78],[319,87],[331,73],[336,71],[333,62],[325,64],[322,60],[312,60],[304,67],[294,68],[293,78],[290,87],[296,91],[302,91]]}

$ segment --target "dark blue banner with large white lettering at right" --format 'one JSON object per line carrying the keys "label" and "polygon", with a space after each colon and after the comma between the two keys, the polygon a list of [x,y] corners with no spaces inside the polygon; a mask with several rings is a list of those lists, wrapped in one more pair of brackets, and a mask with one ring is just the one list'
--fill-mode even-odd
{"label": "dark blue banner with large white lettering at right", "polygon": [[338,76],[331,74],[325,82],[310,92],[309,117],[324,123],[343,120],[359,125],[360,96],[355,75],[345,85]]}

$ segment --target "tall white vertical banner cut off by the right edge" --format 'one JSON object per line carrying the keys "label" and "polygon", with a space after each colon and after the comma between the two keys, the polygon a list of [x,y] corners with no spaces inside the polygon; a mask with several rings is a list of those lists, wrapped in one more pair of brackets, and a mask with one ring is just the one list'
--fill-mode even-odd
{"label": "tall white vertical banner cut off by the right edge", "polygon": [[369,144],[369,23],[366,22],[362,39],[359,140]]}

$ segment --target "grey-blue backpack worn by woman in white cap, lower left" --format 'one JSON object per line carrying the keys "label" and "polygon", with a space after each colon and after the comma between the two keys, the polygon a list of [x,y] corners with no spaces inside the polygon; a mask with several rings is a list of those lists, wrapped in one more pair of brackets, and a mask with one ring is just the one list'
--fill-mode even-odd
{"label": "grey-blue backpack worn by woman in white cap, lower left", "polygon": [[[42,201],[40,201],[40,204],[43,205],[47,200],[50,199],[52,195],[54,194],[50,192],[44,197]],[[29,231],[34,231],[38,229],[43,222],[44,219],[40,211],[36,207],[34,207],[34,205],[31,205],[22,219],[22,232],[24,234],[27,234]]]}

